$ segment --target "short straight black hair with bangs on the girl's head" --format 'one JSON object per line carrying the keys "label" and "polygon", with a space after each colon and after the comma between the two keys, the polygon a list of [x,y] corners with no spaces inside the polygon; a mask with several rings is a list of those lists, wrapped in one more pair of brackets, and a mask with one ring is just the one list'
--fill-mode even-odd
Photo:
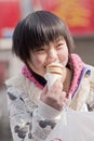
{"label": "short straight black hair with bangs on the girl's head", "polygon": [[30,52],[64,37],[68,51],[73,48],[72,37],[62,18],[49,11],[36,11],[18,22],[13,33],[13,52],[25,63]]}

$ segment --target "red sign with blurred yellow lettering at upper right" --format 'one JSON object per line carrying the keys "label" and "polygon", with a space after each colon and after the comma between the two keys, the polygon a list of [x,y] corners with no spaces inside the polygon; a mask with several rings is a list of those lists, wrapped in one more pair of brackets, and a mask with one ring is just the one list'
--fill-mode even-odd
{"label": "red sign with blurred yellow lettering at upper right", "polygon": [[33,0],[33,4],[61,16],[73,35],[94,35],[94,0]]}

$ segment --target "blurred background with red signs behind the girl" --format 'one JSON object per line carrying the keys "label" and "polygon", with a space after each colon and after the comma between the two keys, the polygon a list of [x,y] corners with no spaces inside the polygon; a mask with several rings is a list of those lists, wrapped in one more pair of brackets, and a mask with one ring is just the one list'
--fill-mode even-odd
{"label": "blurred background with red signs behind the girl", "polygon": [[17,74],[23,65],[11,52],[12,34],[19,20],[37,10],[61,16],[75,39],[75,52],[94,65],[94,0],[0,0],[0,141],[13,141],[4,80]]}

